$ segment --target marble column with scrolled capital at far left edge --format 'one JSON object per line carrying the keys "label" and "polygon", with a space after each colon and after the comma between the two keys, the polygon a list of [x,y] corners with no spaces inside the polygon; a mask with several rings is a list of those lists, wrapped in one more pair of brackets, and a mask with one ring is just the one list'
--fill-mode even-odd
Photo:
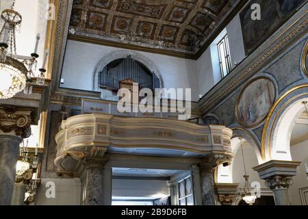
{"label": "marble column with scrolled capital at far left edge", "polygon": [[0,205],[11,205],[22,138],[31,134],[31,110],[0,106]]}

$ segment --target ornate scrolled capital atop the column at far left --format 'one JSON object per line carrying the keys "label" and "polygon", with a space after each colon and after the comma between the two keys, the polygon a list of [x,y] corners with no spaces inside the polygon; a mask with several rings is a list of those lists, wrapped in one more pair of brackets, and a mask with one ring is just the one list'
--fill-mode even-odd
{"label": "ornate scrolled capital atop the column at far left", "polygon": [[29,138],[31,136],[31,113],[28,108],[0,107],[0,135]]}

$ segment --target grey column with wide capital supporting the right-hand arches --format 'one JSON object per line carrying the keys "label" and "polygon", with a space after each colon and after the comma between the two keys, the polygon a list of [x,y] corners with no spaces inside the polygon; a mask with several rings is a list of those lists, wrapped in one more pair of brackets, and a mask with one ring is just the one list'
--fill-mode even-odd
{"label": "grey column with wide capital supporting the right-hand arches", "polygon": [[300,162],[271,160],[253,168],[266,181],[266,187],[274,193],[275,205],[292,205],[289,187]]}

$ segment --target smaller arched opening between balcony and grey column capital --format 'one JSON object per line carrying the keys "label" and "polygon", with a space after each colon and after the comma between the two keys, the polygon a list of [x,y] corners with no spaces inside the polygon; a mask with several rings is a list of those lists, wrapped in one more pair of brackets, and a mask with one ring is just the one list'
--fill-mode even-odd
{"label": "smaller arched opening between balcony and grey column capital", "polygon": [[260,179],[258,172],[253,170],[253,167],[262,163],[261,153],[257,149],[255,139],[246,132],[236,130],[231,140],[231,148],[234,157],[229,166],[218,166],[216,183],[226,186],[228,184],[238,185],[236,194],[233,194],[235,195],[233,205],[246,205],[240,193],[245,188],[244,175],[248,175],[251,187],[257,186],[259,191],[254,205],[274,205],[271,190],[266,188],[265,181]]}

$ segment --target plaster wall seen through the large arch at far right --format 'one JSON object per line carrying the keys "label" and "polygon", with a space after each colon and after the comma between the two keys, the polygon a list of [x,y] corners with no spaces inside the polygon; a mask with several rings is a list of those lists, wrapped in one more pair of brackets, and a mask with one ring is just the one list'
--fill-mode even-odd
{"label": "plaster wall seen through the large arch at far right", "polygon": [[293,177],[293,185],[291,185],[289,189],[292,205],[302,205],[299,189],[308,187],[308,177],[306,175],[305,167],[305,164],[308,165],[307,145],[308,140],[291,146],[292,160],[302,162],[297,168],[297,174]]}

